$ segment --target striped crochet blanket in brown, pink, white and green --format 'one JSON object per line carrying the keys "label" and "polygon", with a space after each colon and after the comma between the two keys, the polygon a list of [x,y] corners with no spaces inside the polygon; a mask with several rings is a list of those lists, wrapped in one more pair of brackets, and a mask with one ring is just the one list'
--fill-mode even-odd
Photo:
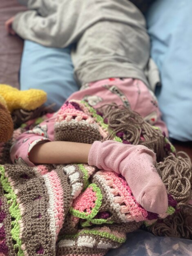
{"label": "striped crochet blanket in brown, pink, white and green", "polygon": [[65,103],[57,114],[55,139],[84,143],[114,139],[154,150],[167,188],[165,214],[143,209],[125,179],[113,172],[87,164],[11,164],[9,150],[18,135],[47,117],[28,121],[0,145],[1,256],[102,256],[141,225],[157,230],[191,198],[190,159],[176,155],[158,128],[114,105],[96,111],[83,101]]}

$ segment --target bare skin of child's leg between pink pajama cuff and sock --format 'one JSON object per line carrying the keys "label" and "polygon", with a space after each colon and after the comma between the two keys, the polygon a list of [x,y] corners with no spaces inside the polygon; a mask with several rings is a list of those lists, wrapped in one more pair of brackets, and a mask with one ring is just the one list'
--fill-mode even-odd
{"label": "bare skin of child's leg between pink pajama cuff and sock", "polygon": [[91,146],[69,141],[49,141],[34,146],[29,153],[29,160],[34,164],[88,163]]}

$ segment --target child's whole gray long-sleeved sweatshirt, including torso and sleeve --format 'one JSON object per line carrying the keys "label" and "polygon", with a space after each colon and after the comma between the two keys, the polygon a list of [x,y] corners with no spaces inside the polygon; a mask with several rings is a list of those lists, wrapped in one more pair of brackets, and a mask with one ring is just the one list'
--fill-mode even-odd
{"label": "child's whole gray long-sleeved sweatshirt, including torso and sleeve", "polygon": [[19,0],[13,29],[49,47],[74,44],[72,60],[80,85],[109,77],[145,76],[150,39],[143,14],[128,0]]}

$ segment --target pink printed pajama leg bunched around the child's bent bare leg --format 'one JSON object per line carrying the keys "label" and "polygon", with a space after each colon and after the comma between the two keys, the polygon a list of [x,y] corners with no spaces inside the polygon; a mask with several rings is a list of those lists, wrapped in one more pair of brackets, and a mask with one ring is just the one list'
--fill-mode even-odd
{"label": "pink printed pajama leg bunched around the child's bent bare leg", "polygon": [[35,166],[29,161],[29,153],[36,144],[54,140],[54,123],[55,116],[22,133],[11,146],[10,157],[13,164]]}

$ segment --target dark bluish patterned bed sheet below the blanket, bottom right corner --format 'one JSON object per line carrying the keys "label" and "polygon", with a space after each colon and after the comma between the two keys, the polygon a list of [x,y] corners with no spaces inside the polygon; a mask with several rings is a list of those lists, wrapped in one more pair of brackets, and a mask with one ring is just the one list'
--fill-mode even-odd
{"label": "dark bluish patterned bed sheet below the blanket, bottom right corner", "polygon": [[106,256],[192,256],[192,240],[154,236],[137,230],[128,233],[126,243]]}

